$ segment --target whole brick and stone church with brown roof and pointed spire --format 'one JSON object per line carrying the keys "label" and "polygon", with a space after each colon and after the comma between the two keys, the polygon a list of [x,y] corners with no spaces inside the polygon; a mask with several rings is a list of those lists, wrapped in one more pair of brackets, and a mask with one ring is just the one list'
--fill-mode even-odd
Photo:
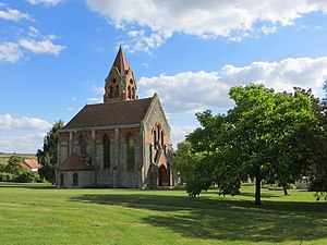
{"label": "whole brick and stone church with brown roof and pointed spire", "polygon": [[121,47],[105,82],[104,102],[85,106],[60,131],[57,187],[172,185],[170,126],[157,94],[138,99]]}

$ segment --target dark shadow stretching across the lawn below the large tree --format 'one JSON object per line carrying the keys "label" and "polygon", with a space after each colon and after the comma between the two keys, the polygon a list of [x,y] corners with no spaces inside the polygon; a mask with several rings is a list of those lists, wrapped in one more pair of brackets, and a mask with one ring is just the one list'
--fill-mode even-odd
{"label": "dark shadow stretching across the lawn below the large tree", "polygon": [[148,194],[81,195],[73,201],[118,205],[161,213],[144,222],[185,237],[243,242],[305,242],[327,238],[326,203],[253,201]]}

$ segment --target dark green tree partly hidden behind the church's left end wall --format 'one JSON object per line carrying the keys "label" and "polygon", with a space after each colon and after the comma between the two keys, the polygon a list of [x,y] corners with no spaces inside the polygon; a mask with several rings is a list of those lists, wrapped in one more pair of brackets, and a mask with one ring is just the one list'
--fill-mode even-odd
{"label": "dark green tree partly hidden behind the church's left end wall", "polygon": [[43,149],[38,149],[36,157],[41,168],[38,170],[40,177],[55,183],[55,169],[58,163],[58,142],[59,142],[59,130],[63,128],[64,123],[59,120],[47,133],[44,138]]}

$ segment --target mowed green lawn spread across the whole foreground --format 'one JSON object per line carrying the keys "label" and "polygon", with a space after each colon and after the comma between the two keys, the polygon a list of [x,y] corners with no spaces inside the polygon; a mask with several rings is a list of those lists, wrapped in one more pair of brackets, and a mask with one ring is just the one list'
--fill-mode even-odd
{"label": "mowed green lawn spread across the whole foreground", "polygon": [[313,193],[56,189],[0,183],[0,244],[327,244],[327,203]]}

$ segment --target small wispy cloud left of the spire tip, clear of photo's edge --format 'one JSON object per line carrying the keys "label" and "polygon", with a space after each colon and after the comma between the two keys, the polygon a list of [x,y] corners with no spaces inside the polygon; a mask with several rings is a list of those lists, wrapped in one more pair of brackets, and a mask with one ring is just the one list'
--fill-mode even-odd
{"label": "small wispy cloud left of the spire tip, clear of photo's edge", "polygon": [[50,39],[37,41],[22,38],[20,39],[20,46],[35,53],[51,53],[55,56],[66,48],[65,46],[55,45]]}

